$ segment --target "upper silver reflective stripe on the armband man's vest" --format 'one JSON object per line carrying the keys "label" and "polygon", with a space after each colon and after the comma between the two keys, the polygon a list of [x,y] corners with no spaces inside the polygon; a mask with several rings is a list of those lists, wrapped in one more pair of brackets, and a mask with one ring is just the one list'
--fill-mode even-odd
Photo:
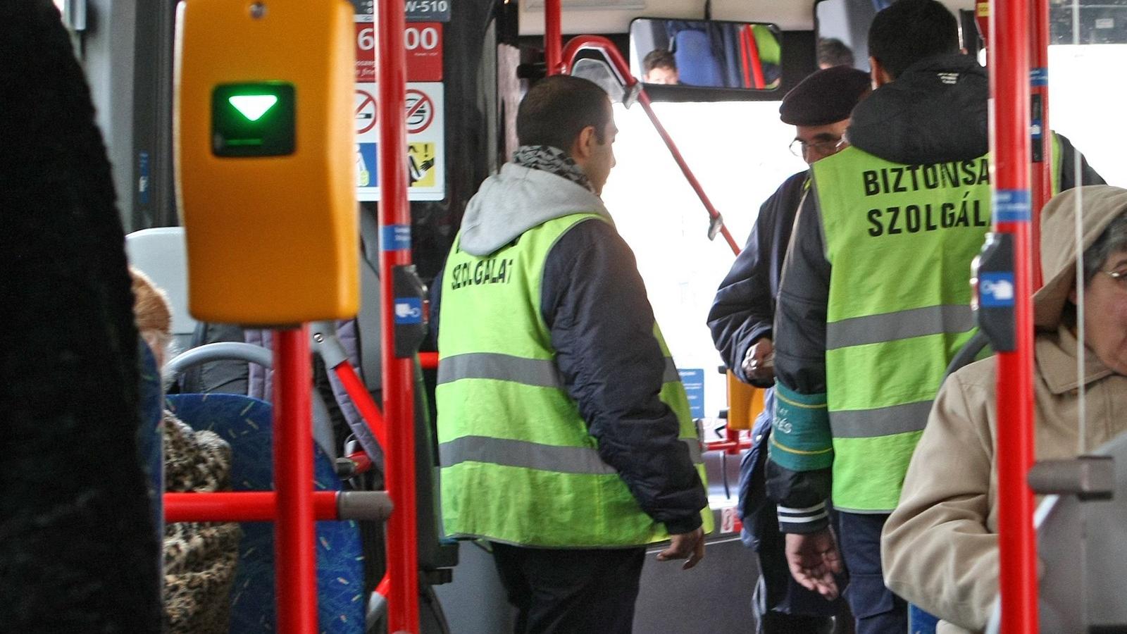
{"label": "upper silver reflective stripe on the armband man's vest", "polygon": [[826,324],[826,350],[940,333],[965,333],[974,326],[975,315],[970,307],[959,305],[853,317]]}

